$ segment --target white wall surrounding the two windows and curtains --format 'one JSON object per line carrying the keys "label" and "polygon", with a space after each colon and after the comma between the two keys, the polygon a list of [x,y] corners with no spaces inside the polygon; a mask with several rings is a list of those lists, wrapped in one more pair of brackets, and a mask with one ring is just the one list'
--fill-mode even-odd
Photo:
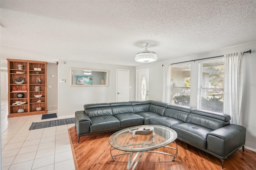
{"label": "white wall surrounding the two windows and curtains", "polygon": [[[256,42],[240,45],[236,47],[230,47],[220,49],[216,51],[210,51],[207,53],[189,55],[179,57],[175,59],[169,59],[166,61],[156,62],[147,65],[141,65],[136,69],[150,69],[150,100],[162,101],[163,93],[163,68],[162,64],[176,63],[182,61],[190,61],[193,59],[202,59],[206,57],[214,57],[225,55],[228,53],[248,51],[252,50],[252,53],[244,55],[244,68],[245,68],[245,79],[244,79],[244,94],[242,102],[242,125],[246,127],[246,146],[256,150],[256,114],[255,114],[255,98],[256,98]],[[159,56],[160,58],[160,56]],[[203,60],[200,60],[203,61]],[[198,87],[198,62],[190,62],[191,64],[191,86],[190,86],[190,107],[197,108],[197,87]]]}

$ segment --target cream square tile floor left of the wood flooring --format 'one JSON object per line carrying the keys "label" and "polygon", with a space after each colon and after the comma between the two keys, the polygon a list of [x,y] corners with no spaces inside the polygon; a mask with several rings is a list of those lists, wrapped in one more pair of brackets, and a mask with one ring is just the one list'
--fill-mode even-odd
{"label": "cream square tile floor left of the wood flooring", "polygon": [[[54,112],[56,113],[56,112]],[[2,170],[74,170],[68,128],[74,124],[28,130],[42,115],[7,118],[1,102]],[[64,118],[60,118],[64,119]]]}

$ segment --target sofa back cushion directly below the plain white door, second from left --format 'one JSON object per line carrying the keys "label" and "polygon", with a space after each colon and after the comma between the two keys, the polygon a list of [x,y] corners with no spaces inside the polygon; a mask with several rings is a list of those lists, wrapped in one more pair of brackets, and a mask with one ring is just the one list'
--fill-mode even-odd
{"label": "sofa back cushion directly below the plain white door, second from left", "polygon": [[114,102],[110,103],[113,115],[121,113],[133,113],[133,108],[130,102]]}

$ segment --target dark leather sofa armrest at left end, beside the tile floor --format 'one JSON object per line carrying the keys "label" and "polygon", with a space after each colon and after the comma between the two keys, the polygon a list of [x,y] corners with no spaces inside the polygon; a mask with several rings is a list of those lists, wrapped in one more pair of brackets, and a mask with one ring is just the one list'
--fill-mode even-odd
{"label": "dark leather sofa armrest at left end, beside the tile floor", "polygon": [[86,115],[84,111],[75,112],[75,125],[78,136],[90,133],[90,125],[92,124],[91,119]]}

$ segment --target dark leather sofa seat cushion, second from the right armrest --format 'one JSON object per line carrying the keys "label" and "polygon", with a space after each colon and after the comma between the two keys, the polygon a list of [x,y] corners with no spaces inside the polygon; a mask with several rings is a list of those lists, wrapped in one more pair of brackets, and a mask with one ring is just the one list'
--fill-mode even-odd
{"label": "dark leather sofa seat cushion, second from the right armrest", "polygon": [[157,116],[149,119],[150,125],[162,125],[165,127],[172,127],[180,123],[184,122],[167,116]]}

